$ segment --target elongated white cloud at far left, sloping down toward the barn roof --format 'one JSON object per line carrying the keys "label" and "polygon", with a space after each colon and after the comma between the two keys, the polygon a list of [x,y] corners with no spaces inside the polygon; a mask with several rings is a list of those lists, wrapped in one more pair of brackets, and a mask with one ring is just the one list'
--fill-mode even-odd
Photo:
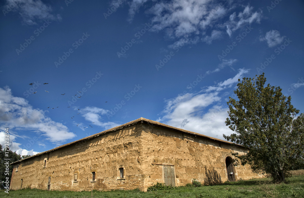
{"label": "elongated white cloud at far left, sloping down toward the barn roof", "polygon": [[33,109],[24,98],[12,96],[9,87],[0,88],[0,123],[10,129],[36,132],[52,142],[75,137],[66,126],[45,116],[44,111]]}

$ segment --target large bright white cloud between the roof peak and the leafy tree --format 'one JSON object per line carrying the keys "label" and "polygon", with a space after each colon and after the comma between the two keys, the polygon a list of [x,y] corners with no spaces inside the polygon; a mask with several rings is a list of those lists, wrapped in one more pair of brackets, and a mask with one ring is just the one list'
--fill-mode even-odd
{"label": "large bright white cloud between the roof peak and the leafy tree", "polygon": [[[234,59],[231,59],[227,62],[233,61]],[[181,94],[166,100],[166,106],[162,111],[164,116],[157,121],[225,140],[223,134],[230,135],[233,131],[225,124],[229,108],[221,105],[227,94],[220,94],[220,91],[237,83],[238,79],[248,71],[239,69],[233,78],[217,83],[215,86],[209,86],[207,90],[196,94]]]}

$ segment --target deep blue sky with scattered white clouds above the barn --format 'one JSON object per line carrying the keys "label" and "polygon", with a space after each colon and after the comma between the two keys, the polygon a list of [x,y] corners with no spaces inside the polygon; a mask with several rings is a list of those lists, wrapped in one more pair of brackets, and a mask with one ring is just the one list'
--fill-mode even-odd
{"label": "deep blue sky with scattered white clouds above the barn", "polygon": [[304,110],[303,1],[0,6],[0,144],[9,128],[20,154],[140,117],[223,139],[238,79],[263,72]]}

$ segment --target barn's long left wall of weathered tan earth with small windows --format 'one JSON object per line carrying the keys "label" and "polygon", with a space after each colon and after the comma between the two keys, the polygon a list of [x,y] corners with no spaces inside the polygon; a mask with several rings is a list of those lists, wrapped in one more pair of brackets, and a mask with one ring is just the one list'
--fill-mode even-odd
{"label": "barn's long left wall of weathered tan earth with small windows", "polygon": [[[111,190],[143,189],[142,168],[137,161],[140,156],[143,129],[140,125],[98,136],[91,140],[43,154],[15,164],[10,189],[47,189],[51,177],[50,190]],[[47,160],[46,167],[44,160]],[[19,165],[16,172],[16,166]],[[122,166],[121,166],[122,165]],[[124,179],[119,177],[119,166],[125,169]],[[95,171],[95,182],[91,182]],[[74,182],[74,174],[78,180]]]}

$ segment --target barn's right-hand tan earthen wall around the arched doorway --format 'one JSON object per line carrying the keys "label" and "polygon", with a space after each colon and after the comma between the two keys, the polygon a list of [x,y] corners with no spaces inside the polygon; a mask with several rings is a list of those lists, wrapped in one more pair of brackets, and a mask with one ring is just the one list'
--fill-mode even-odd
{"label": "barn's right-hand tan earthen wall around the arched doorway", "polygon": [[[163,165],[174,165],[177,186],[191,183],[192,178],[203,183],[221,183],[228,180],[226,157],[231,152],[245,154],[242,147],[207,140],[162,127],[144,125],[141,134],[145,140],[140,163],[146,164],[145,187],[164,182]],[[248,165],[234,167],[236,180],[263,177],[250,170]],[[145,189],[146,189],[145,188]]]}

